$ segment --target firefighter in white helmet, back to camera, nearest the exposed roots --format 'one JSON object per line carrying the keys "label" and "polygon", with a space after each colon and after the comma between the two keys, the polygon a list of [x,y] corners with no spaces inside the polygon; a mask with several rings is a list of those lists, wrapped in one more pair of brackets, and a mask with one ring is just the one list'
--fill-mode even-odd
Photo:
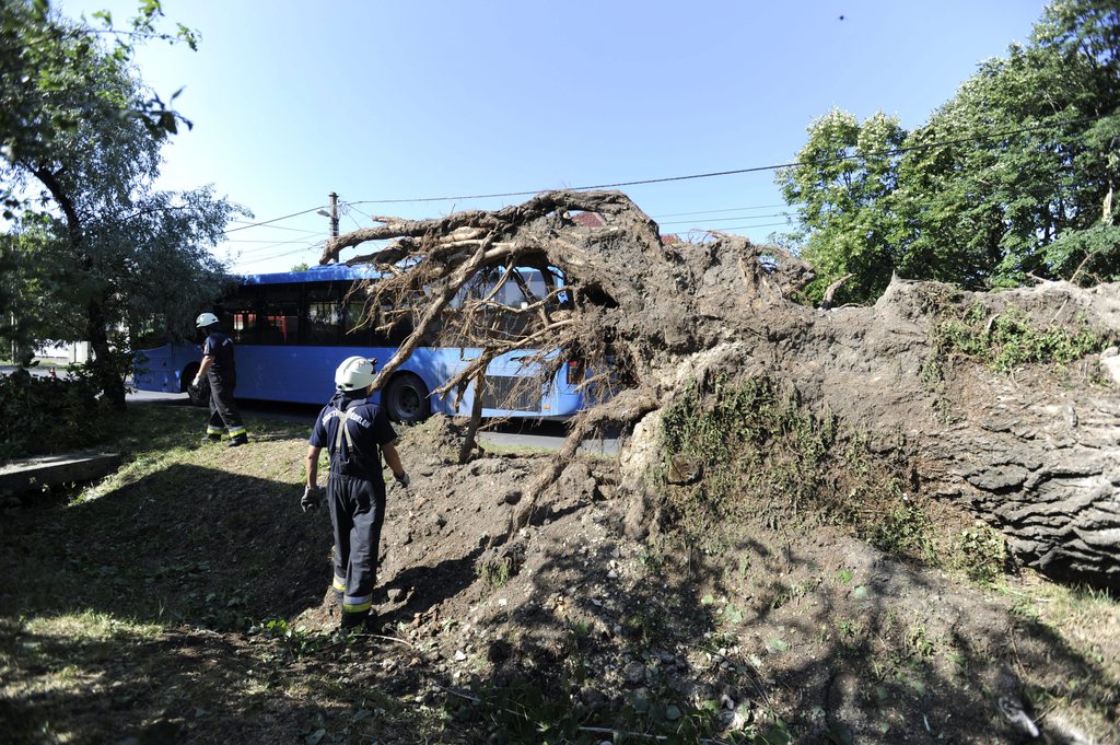
{"label": "firefighter in white helmet, back to camera, nearest the exposed roots", "polygon": [[396,451],[396,432],[385,411],[370,400],[376,360],[347,357],[335,372],[337,393],[319,412],[307,448],[307,486],[300,504],[318,506],[319,451],[330,454],[327,504],[335,538],[335,595],[343,631],[372,631],[377,547],[385,520],[381,457],[402,486],[409,475]]}

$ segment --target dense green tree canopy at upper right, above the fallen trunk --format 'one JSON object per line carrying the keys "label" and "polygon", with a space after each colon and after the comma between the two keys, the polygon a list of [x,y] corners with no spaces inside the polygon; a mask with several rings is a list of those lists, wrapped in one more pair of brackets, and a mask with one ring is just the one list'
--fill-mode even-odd
{"label": "dense green tree canopy at upper right, above the fallen trunk", "polygon": [[881,113],[814,121],[777,176],[819,270],[809,296],[848,273],[853,301],[892,273],[973,289],[1120,278],[1118,50],[1114,3],[1057,0],[913,131]]}

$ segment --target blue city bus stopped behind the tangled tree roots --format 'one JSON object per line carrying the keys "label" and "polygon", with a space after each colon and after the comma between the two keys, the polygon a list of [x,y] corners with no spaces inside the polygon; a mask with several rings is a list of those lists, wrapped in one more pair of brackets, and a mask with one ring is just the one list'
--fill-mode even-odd
{"label": "blue city bus stopped behind the tangled tree roots", "polygon": [[[495,283],[480,277],[464,289],[512,307],[545,297],[560,287],[556,270],[519,269],[522,281]],[[395,354],[412,330],[407,319],[389,334],[367,323],[367,280],[380,274],[372,267],[327,264],[306,271],[240,277],[214,311],[236,350],[239,399],[325,403],[334,394],[334,373],[352,355],[375,357],[377,370]],[[500,285],[500,286],[498,286]],[[529,291],[535,298],[525,297]],[[460,297],[464,295],[460,294]],[[485,294],[485,295],[483,295]],[[461,302],[458,298],[452,306]],[[482,353],[480,348],[418,346],[377,393],[390,418],[413,423],[431,413],[469,416],[476,391],[472,383],[459,406],[444,385]],[[563,419],[585,406],[580,390],[584,366],[566,361],[549,380],[543,365],[532,362],[532,350],[495,358],[486,369],[484,417]],[[202,360],[198,344],[166,344],[137,353],[133,385],[141,391],[189,393],[197,406],[208,391],[188,390]]]}

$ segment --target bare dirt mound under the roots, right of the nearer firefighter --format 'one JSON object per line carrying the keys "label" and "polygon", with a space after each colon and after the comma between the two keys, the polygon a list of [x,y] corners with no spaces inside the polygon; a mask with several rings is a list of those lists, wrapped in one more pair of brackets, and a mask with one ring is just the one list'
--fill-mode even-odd
{"label": "bare dirt mound under the roots, right of the nearer firefighter", "polygon": [[[407,492],[391,488],[383,637],[363,664],[449,707],[461,742],[533,742],[517,737],[534,717],[570,742],[618,728],[682,742],[1112,742],[1117,637],[1079,626],[1091,641],[1071,646],[1018,599],[1039,580],[992,593],[831,528],[740,525],[708,552],[668,532],[635,541],[601,460],[569,465],[495,550],[547,456],[451,465],[421,455],[429,431],[402,444],[420,460]],[[1117,630],[1110,608],[1092,623]],[[297,623],[329,628],[334,613],[328,596]]]}

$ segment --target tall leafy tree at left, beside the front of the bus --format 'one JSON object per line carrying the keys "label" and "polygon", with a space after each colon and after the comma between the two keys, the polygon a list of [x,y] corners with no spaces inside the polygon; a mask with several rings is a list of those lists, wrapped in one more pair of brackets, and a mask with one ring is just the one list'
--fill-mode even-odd
{"label": "tall leafy tree at left, beside the front of the bus", "polygon": [[[148,0],[133,30],[114,35],[106,49],[94,29],[50,13],[46,3],[0,7],[0,46],[12,60],[0,75],[6,217],[50,236],[38,273],[24,262],[21,276],[64,278],[73,313],[55,316],[49,337],[91,343],[96,382],[116,406],[124,402],[129,332],[153,320],[174,327],[168,319],[193,317],[221,289],[222,267],[206,248],[240,211],[206,188],[151,187],[160,146],[185,121],[130,67],[131,44],[159,36],[158,16],[159,3]],[[38,195],[28,196],[35,188]]]}

